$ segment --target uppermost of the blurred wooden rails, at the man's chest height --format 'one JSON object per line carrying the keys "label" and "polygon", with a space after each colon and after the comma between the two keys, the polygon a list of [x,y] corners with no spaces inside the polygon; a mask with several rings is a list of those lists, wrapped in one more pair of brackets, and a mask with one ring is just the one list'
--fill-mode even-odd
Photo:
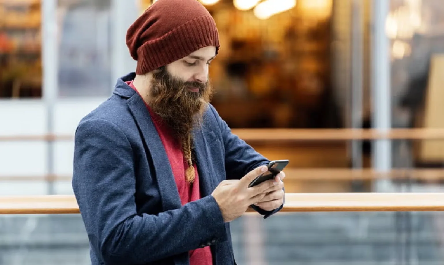
{"label": "uppermost of the blurred wooden rails, at the man's chest height", "polygon": [[[444,128],[390,129],[381,132],[375,129],[233,129],[232,132],[247,142],[254,141],[339,141],[410,139],[442,140]],[[0,136],[5,141],[72,141],[73,135],[11,135]]]}

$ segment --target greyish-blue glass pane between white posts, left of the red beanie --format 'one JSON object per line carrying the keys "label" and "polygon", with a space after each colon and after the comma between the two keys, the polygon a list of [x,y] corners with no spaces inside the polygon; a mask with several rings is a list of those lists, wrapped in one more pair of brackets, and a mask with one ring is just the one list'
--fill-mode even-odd
{"label": "greyish-blue glass pane between white posts, left of the red beanie", "polygon": [[60,98],[111,95],[110,13],[110,0],[58,1]]}

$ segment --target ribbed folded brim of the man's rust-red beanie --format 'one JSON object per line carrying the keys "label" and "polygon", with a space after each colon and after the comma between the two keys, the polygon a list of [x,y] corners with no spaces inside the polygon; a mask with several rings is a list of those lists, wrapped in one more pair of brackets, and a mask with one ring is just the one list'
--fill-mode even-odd
{"label": "ribbed folded brim of the man's rust-red beanie", "polygon": [[206,46],[219,47],[218,31],[211,16],[201,16],[173,29],[137,49],[136,74],[165,66]]}

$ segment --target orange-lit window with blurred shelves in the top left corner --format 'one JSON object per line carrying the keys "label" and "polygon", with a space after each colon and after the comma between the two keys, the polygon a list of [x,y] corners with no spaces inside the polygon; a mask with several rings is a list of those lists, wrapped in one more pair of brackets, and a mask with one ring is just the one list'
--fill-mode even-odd
{"label": "orange-lit window with blurred shelves in the top left corner", "polygon": [[41,98],[40,0],[0,1],[0,98]]}

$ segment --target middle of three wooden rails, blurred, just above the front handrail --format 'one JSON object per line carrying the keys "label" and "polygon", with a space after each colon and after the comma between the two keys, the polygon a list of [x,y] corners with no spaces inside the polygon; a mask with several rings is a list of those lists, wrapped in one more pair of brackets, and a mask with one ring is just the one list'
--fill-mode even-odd
{"label": "middle of three wooden rails, blurred, just above the front handrail", "polygon": [[[444,179],[444,168],[426,169],[393,169],[389,171],[377,171],[373,169],[348,169],[348,168],[286,168],[287,179],[292,180],[372,180],[378,178],[417,180]],[[43,175],[43,176],[0,176],[0,182],[20,181],[61,181],[70,182],[70,175]]]}

